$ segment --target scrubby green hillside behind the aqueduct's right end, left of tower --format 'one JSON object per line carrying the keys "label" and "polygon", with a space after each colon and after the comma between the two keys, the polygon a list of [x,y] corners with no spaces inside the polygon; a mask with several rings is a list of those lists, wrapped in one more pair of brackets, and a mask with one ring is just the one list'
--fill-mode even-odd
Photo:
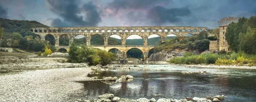
{"label": "scrubby green hillside behind the aqueduct's right end, left of tower", "polygon": [[206,31],[202,31],[192,37],[175,37],[174,39],[166,40],[154,47],[154,52],[158,51],[173,51],[175,49],[183,50],[198,50],[203,52],[209,50],[209,40],[207,40]]}

